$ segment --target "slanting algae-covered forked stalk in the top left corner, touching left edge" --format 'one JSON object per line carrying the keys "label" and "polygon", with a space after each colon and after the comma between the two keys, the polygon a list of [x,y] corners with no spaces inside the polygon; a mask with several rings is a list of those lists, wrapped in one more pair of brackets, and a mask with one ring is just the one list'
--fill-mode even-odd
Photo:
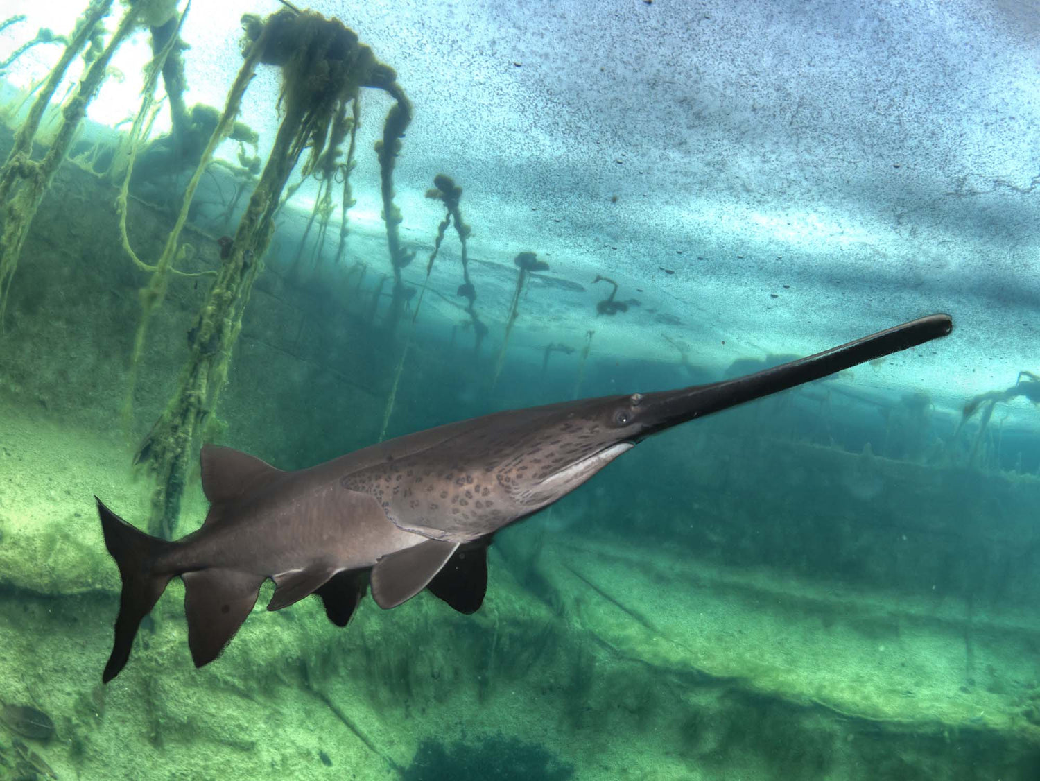
{"label": "slanting algae-covered forked stalk in the top left corner, touching left edge", "polygon": [[51,69],[43,89],[29,109],[29,115],[15,134],[15,144],[3,167],[0,167],[0,224],[3,225],[0,232],[0,330],[3,328],[11,278],[18,267],[32,218],[75,139],[80,123],[86,115],[86,107],[108,75],[108,63],[112,55],[137,24],[138,8],[128,8],[107,46],[83,75],[76,95],[63,107],[60,126],[47,153],[42,160],[33,160],[32,145],[44,111],[50,105],[72,60],[93,40],[99,23],[111,6],[112,0],[95,0],[80,17],[69,45]]}

